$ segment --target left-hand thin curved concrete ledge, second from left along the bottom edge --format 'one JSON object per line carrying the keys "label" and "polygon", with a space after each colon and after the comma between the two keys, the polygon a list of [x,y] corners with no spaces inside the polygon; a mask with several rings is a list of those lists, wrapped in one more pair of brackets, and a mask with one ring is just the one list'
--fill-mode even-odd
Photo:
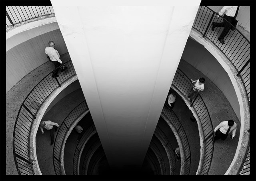
{"label": "left-hand thin curved concrete ledge, second from left along the bottom edge", "polygon": [[86,115],[88,114],[88,112],[90,112],[89,110],[86,110],[85,112],[83,112],[82,114],[80,114],[78,116],[78,118],[76,118],[72,124],[70,125],[70,127],[68,128],[68,132],[66,132],[64,140],[62,142],[62,146],[60,149],[60,169],[61,169],[61,173],[62,175],[66,175],[65,172],[65,168],[64,168],[64,150],[65,150],[65,144],[66,141],[68,140],[68,136],[70,135],[70,133],[72,132],[72,130],[74,129],[74,127],[76,126],[76,124],[78,124],[78,122]]}

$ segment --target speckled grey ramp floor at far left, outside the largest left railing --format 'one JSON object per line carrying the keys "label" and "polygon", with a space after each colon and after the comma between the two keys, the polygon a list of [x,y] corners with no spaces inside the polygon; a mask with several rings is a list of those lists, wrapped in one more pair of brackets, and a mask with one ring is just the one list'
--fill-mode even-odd
{"label": "speckled grey ramp floor at far left, outside the largest left railing", "polygon": [[[70,60],[69,53],[61,55],[60,59],[63,62]],[[54,64],[47,61],[24,76],[10,91],[6,92],[6,175],[18,175],[13,158],[12,137],[20,106],[36,84],[53,70]]]}

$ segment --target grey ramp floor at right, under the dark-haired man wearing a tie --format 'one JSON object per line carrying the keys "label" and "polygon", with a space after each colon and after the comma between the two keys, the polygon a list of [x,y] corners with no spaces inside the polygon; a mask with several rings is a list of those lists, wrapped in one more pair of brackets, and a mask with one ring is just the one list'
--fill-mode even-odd
{"label": "grey ramp floor at right, under the dark-haired man wearing a tie", "polygon": [[220,124],[220,122],[230,119],[234,120],[237,124],[236,136],[232,140],[228,137],[224,141],[216,140],[214,144],[212,165],[208,175],[224,175],[236,153],[240,134],[240,122],[228,99],[210,79],[182,59],[178,67],[192,80],[199,79],[200,77],[205,78],[204,91],[200,92],[200,95],[210,114],[213,128]]}

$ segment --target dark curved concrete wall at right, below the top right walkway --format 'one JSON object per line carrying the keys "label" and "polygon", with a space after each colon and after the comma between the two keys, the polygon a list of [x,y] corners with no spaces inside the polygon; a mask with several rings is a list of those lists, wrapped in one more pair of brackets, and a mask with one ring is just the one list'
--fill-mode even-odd
{"label": "dark curved concrete wall at right, below the top right walkway", "polygon": [[203,45],[191,38],[188,38],[182,54],[182,59],[208,77],[220,89],[220,91],[223,92],[236,113],[236,116],[241,121],[236,91],[228,73],[216,58],[207,49],[205,49]]}

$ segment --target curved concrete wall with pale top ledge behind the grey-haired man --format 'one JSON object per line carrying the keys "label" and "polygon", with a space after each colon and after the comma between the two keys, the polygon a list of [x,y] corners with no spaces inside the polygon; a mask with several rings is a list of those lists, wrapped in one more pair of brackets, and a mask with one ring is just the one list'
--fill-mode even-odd
{"label": "curved concrete wall with pale top ledge behind the grey-haired man", "polygon": [[55,18],[30,22],[6,33],[6,92],[48,61],[44,49],[51,40],[60,55],[68,52]]}

